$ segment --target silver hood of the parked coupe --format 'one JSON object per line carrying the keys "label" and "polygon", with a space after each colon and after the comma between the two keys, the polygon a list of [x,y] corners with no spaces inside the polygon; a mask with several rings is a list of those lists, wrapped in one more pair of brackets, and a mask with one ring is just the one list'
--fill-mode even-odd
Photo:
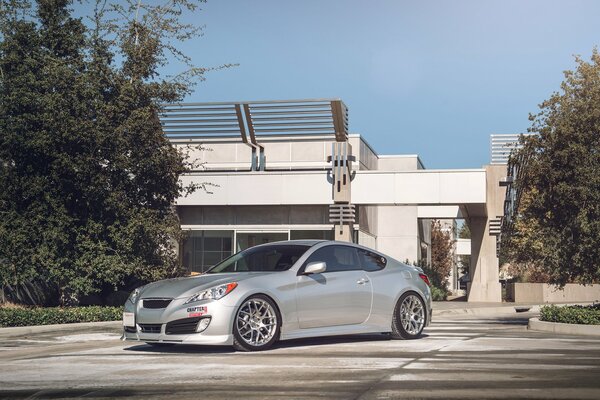
{"label": "silver hood of the parked coupe", "polygon": [[273,272],[236,272],[165,279],[144,286],[140,290],[140,299],[150,297],[170,297],[174,299],[189,297],[213,286],[229,282],[240,282],[252,277],[270,274],[273,274]]}

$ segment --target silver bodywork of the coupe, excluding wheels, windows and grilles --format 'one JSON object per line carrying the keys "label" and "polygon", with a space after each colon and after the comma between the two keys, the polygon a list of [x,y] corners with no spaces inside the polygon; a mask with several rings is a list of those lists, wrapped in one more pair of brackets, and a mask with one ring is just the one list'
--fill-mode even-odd
{"label": "silver bodywork of the coupe, excluding wheels, windows and grilles", "polygon": [[[257,294],[269,296],[281,314],[280,340],[316,336],[390,332],[392,315],[400,296],[416,292],[431,321],[431,291],[419,277],[419,269],[360,245],[332,241],[288,241],[281,244],[312,246],[287,271],[204,274],[168,279],[139,289],[134,303],[128,300],[124,312],[135,314],[135,332],[125,330],[123,339],[144,342],[190,343],[203,345],[233,344],[233,323],[244,300]],[[271,245],[274,243],[270,243]],[[316,250],[332,245],[353,246],[386,258],[378,271],[339,271],[298,274],[306,259]],[[220,284],[238,286],[219,300],[186,304],[195,293]],[[144,299],[173,299],[166,308],[143,307]],[[166,324],[198,315],[210,317],[209,326],[200,333],[166,334]],[[160,332],[144,333],[141,326],[160,324]]]}

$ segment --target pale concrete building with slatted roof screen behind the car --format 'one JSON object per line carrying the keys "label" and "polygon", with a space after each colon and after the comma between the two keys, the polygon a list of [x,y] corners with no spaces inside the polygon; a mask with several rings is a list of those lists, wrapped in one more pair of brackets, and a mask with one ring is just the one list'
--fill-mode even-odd
{"label": "pale concrete building with slatted roof screen behind the car", "polygon": [[382,155],[349,134],[347,116],[338,99],[167,106],[165,133],[198,165],[183,184],[206,188],[177,201],[184,264],[201,272],[256,244],[305,238],[429,262],[431,219],[464,218],[468,300],[500,301],[494,229],[506,166],[427,170],[417,155]]}

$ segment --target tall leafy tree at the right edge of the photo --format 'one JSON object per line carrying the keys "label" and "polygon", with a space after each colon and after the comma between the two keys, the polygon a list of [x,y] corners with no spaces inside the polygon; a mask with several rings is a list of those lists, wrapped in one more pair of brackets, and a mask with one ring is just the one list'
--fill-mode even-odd
{"label": "tall leafy tree at the right edge of the photo", "polygon": [[511,157],[523,173],[508,260],[558,285],[600,280],[600,54],[576,62]]}

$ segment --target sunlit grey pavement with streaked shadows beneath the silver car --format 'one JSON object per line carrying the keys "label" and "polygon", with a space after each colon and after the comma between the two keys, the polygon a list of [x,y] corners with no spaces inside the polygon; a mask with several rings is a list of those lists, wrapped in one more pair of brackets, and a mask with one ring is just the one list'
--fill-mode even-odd
{"label": "sunlit grey pavement with streaked shadows beneath the silver car", "polygon": [[600,338],[528,331],[530,316],[449,315],[418,340],[295,340],[261,353],[122,342],[117,324],[0,332],[0,397],[599,399]]}

